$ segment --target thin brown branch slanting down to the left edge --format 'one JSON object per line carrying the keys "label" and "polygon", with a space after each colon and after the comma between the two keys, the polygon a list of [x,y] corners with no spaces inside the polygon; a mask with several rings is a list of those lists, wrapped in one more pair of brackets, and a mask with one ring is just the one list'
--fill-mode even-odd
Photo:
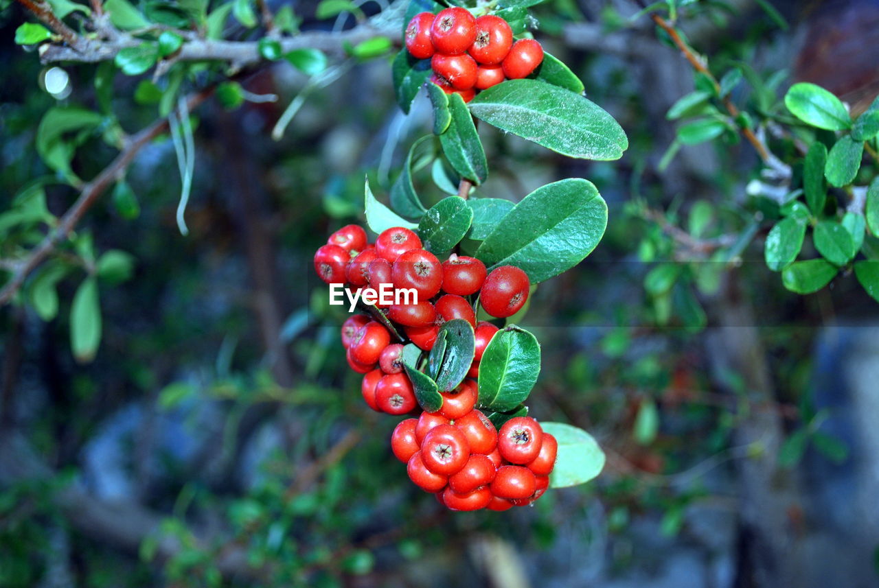
{"label": "thin brown branch slanting down to the left edge", "polygon": [[[207,97],[214,93],[214,88],[201,90],[193,94],[186,101],[189,109],[193,110],[196,106],[204,102]],[[21,285],[25,283],[27,276],[36,269],[40,263],[52,254],[54,248],[57,247],[62,240],[67,239],[68,235],[73,231],[76,224],[83,218],[86,211],[91,208],[92,204],[98,200],[98,197],[104,193],[113,182],[119,179],[128,165],[134,161],[134,156],[149,144],[149,141],[156,139],[161,133],[168,129],[168,119],[162,118],[152,125],[143,129],[140,133],[135,134],[127,141],[127,145],[116,156],[110,165],[108,165],[101,173],[98,174],[91,182],[83,186],[76,202],[68,209],[52,231],[40,242],[40,245],[34,247],[25,259],[18,264],[17,269],[13,272],[9,282],[0,290],[0,306],[7,304],[15,295]]]}

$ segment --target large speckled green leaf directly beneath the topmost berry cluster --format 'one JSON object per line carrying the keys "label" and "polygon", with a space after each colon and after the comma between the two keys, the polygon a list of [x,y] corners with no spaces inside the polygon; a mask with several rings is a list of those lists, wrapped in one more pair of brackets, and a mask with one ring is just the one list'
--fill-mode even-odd
{"label": "large speckled green leaf directly beneath the topmost berry cluster", "polygon": [[613,117],[570,90],[537,80],[509,80],[480,92],[470,111],[490,125],[556,153],[608,161],[628,148]]}

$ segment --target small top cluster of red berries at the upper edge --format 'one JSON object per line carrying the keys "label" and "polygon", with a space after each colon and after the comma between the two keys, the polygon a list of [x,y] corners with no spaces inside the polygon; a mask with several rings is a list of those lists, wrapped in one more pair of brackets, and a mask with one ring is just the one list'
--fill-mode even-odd
{"label": "small top cluster of red berries at the upper edge", "polygon": [[460,94],[464,102],[477,90],[531,75],[543,61],[541,44],[534,39],[513,42],[503,18],[475,18],[459,6],[436,16],[420,12],[409,21],[404,37],[413,57],[431,60],[431,82],[447,94]]}

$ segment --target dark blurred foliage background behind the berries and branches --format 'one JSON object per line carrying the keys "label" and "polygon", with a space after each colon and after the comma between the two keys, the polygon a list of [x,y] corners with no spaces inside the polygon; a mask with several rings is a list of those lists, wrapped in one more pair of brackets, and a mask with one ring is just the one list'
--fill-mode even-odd
{"label": "dark blurred foliage background behind the berries and branches", "polygon": [[[804,80],[863,110],[879,89],[875,0],[695,4],[690,43],[712,64],[747,62],[779,96]],[[40,118],[94,108],[100,66],[40,65],[13,43],[23,9],[0,6],[2,213],[47,174]],[[328,28],[312,0],[293,7],[301,29]],[[87,268],[59,279],[50,320],[0,309],[0,586],[879,585],[879,306],[850,277],[784,290],[763,263],[765,233],[722,267],[672,251],[664,219],[694,209],[710,207],[712,238],[737,230],[758,161],[719,140],[667,157],[665,113],[694,75],[650,18],[630,18],[639,8],[534,9],[536,37],[628,133],[621,161],[572,161],[480,128],[492,173],[480,194],[518,200],[581,176],[609,205],[599,247],[542,283],[523,320],[542,344],[531,414],[592,433],[607,453],[600,477],[505,513],[450,513],[410,484],[389,451],[396,419],[363,404],[338,342],[345,311],[327,305],[311,259],[362,222],[364,174],[387,197],[430,133],[430,105],[399,111],[392,54],[346,61],[272,140],[308,83],[278,64],[241,79],[277,102],[195,111],[188,235],[167,134],[128,169],[131,192],[108,193],[77,227],[96,251],[127,254],[98,283],[93,361],[70,349]],[[47,88],[58,67],[66,82]],[[142,79],[115,80],[129,132],[156,118]],[[73,168],[90,178],[112,156],[88,140]],[[416,176],[427,201],[441,196],[429,177]],[[54,214],[76,197],[46,195]],[[713,281],[682,290],[670,319],[644,290],[664,256]]]}

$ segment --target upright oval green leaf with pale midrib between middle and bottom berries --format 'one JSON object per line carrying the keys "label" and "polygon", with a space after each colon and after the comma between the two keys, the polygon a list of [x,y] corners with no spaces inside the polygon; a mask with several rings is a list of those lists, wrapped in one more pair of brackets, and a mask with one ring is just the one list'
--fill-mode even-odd
{"label": "upright oval green leaf with pale midrib between middle and bottom berries", "polygon": [[541,371],[541,346],[518,326],[495,333],[479,362],[479,405],[508,411],[528,398]]}

